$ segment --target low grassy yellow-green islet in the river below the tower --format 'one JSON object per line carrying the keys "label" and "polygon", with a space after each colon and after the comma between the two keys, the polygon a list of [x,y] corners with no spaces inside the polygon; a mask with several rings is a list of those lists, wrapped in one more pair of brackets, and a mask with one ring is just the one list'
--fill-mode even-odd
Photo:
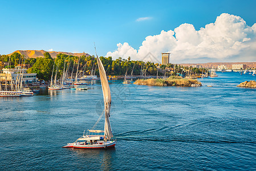
{"label": "low grassy yellow-green islet in the river below the tower", "polygon": [[170,76],[167,79],[137,79],[133,84],[147,85],[147,86],[202,86],[202,83],[194,79],[185,79],[179,76]]}

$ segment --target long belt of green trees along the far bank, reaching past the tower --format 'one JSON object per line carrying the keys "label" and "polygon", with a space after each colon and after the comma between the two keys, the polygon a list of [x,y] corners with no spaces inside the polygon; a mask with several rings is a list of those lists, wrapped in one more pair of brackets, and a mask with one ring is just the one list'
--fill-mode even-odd
{"label": "long belt of green trees along the far bank, reaching past the tower", "polygon": [[[23,55],[15,52],[9,55],[0,55],[0,61],[9,62],[10,67],[14,68],[14,66],[18,66],[18,64],[25,64],[25,67],[28,69],[28,73],[36,73],[39,80],[49,81],[51,79],[52,68],[55,63],[55,68],[58,66],[58,76],[63,74],[64,64],[68,67],[68,73],[71,74],[72,69],[74,68],[73,74],[76,73],[77,65],[79,61],[79,70],[82,70],[84,67],[84,75],[95,74],[99,76],[99,70],[95,67],[97,66],[97,61],[95,56],[72,56],[66,54],[58,54],[56,58],[52,58],[48,52],[45,52],[44,57],[41,58],[25,58]],[[80,58],[80,60],[79,60]],[[127,72],[128,75],[131,75],[133,70],[133,75],[151,75],[151,76],[177,76],[180,75],[182,77],[185,76],[194,76],[200,77],[200,74],[208,72],[203,68],[192,68],[192,67],[184,67],[177,64],[168,64],[161,65],[158,63],[152,62],[143,62],[140,60],[131,60],[131,57],[128,59],[122,59],[119,57],[116,60],[113,60],[111,56],[103,57],[100,56],[100,59],[105,68],[106,74],[108,76],[119,76],[125,75]],[[74,66],[74,67],[73,67]],[[6,66],[7,68],[9,66]],[[94,67],[94,73],[91,73],[92,68]],[[158,67],[158,68],[157,68]],[[141,72],[142,71],[142,72]]]}

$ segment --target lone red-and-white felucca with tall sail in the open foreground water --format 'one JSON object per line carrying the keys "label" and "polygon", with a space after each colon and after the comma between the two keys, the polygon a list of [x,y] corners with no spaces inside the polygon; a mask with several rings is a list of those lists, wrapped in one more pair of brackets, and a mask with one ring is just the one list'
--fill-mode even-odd
{"label": "lone red-and-white felucca with tall sail in the open foreground water", "polygon": [[[74,143],[68,143],[63,148],[83,148],[83,149],[102,149],[102,148],[111,148],[116,145],[116,140],[112,140],[112,129],[109,121],[110,116],[110,107],[111,107],[111,93],[109,89],[108,79],[105,74],[105,69],[101,63],[99,57],[97,56],[97,64],[99,66],[100,72],[100,82],[103,91],[104,98],[104,111],[105,113],[105,124],[104,131],[95,130],[97,123],[99,123],[100,118],[97,120],[96,124],[92,129],[88,130],[86,135],[83,135]],[[104,134],[103,134],[104,133]]]}

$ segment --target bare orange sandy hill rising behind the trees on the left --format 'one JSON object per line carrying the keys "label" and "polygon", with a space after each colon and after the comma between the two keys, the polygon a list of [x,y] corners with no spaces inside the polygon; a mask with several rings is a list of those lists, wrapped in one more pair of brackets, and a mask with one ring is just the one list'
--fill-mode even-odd
{"label": "bare orange sandy hill rising behind the trees on the left", "polygon": [[[18,51],[15,51],[21,55],[24,55],[25,58],[37,58],[37,57],[43,57],[43,54],[47,51],[44,51],[44,50],[40,50],[40,51],[37,51],[37,50],[25,50],[25,51],[22,51],[22,50],[18,50]],[[14,53],[14,52],[13,52]],[[13,54],[11,53],[11,54]],[[52,58],[56,58],[56,56],[58,54],[66,54],[66,55],[73,55],[73,56],[82,56],[82,55],[86,55],[86,56],[90,56],[89,54],[87,53],[71,53],[71,52],[55,52],[55,51],[51,51],[49,52],[51,57]],[[11,54],[8,54],[8,55],[11,55]]]}

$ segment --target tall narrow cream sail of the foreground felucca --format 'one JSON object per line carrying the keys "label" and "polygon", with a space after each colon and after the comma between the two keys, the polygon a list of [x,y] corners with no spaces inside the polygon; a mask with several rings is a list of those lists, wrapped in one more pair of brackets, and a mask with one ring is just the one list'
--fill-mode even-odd
{"label": "tall narrow cream sail of the foreground felucca", "polygon": [[108,85],[108,79],[105,74],[105,69],[98,56],[97,56],[97,64],[99,66],[100,82],[101,82],[101,87],[102,87],[103,97],[104,97],[104,111],[105,111],[104,137],[105,139],[110,140],[113,136],[110,121],[109,121],[109,116],[110,116],[109,112],[111,107],[111,94],[110,94],[110,89]]}

